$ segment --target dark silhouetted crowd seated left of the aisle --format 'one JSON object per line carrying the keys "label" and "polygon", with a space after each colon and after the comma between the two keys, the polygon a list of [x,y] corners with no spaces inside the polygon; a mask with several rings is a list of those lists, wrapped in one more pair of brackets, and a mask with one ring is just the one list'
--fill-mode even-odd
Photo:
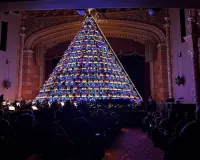
{"label": "dark silhouetted crowd seated left of the aisle", "polygon": [[[22,102],[17,111],[0,109],[1,159],[37,160],[100,160],[104,156],[105,137],[119,131],[115,112],[89,111],[86,104],[52,108],[36,103],[38,111],[31,111],[31,103]],[[103,117],[100,117],[103,116]],[[103,124],[101,126],[101,124]],[[106,136],[105,136],[106,133]],[[12,154],[6,151],[12,148]]]}

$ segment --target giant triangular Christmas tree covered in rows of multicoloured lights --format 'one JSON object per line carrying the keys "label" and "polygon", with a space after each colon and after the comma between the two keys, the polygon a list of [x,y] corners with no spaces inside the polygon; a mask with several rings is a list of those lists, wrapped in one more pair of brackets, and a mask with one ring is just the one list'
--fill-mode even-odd
{"label": "giant triangular Christmas tree covered in rows of multicoloured lights", "polygon": [[104,99],[142,101],[98,24],[88,16],[36,100]]}

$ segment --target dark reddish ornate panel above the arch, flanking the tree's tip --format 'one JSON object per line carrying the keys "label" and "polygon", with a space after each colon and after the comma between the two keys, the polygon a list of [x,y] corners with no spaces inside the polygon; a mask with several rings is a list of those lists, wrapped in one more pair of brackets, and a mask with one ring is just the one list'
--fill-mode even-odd
{"label": "dark reddish ornate panel above the arch, flanking the tree's tip", "polygon": [[[49,10],[21,12],[25,17],[26,38],[43,29],[70,22],[82,22],[84,17],[75,10]],[[150,16],[145,9],[109,9],[106,13],[96,12],[98,21],[122,20],[124,22],[141,22],[154,25],[164,30],[157,15]]]}

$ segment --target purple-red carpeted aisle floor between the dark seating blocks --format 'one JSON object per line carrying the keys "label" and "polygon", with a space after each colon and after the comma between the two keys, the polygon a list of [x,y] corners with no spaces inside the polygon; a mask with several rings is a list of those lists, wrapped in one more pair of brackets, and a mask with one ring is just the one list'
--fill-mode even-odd
{"label": "purple-red carpeted aisle floor between the dark seating blocks", "polygon": [[162,160],[163,152],[153,147],[151,140],[140,129],[122,129],[105,160]]}

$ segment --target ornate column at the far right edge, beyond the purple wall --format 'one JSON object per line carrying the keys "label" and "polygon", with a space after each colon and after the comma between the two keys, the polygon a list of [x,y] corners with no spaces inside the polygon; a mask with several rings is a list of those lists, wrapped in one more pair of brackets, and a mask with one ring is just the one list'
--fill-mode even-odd
{"label": "ornate column at the far right edge, beyond the purple wall", "polygon": [[200,70],[199,70],[199,51],[198,51],[198,26],[196,24],[197,12],[196,9],[189,11],[189,26],[188,31],[190,34],[184,37],[185,41],[189,44],[188,54],[191,56],[192,65],[192,78],[193,78],[193,98],[194,103],[200,103]]}

